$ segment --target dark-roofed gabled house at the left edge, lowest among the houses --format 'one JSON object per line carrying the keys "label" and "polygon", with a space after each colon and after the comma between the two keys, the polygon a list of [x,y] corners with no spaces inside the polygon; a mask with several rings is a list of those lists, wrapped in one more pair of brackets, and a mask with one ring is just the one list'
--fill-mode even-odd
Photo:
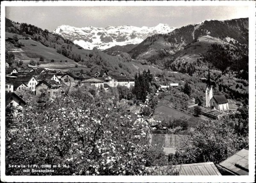
{"label": "dark-roofed gabled house at the left edge, lowest among the houses", "polygon": [[14,92],[6,93],[6,107],[23,109],[26,102]]}

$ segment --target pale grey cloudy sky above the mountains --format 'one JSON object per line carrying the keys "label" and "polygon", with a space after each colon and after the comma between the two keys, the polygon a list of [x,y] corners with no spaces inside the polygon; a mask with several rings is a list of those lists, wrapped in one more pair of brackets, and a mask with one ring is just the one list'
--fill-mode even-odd
{"label": "pale grey cloudy sky above the mountains", "polygon": [[74,27],[157,26],[182,27],[203,20],[249,17],[247,6],[6,6],[6,18],[53,31]]}

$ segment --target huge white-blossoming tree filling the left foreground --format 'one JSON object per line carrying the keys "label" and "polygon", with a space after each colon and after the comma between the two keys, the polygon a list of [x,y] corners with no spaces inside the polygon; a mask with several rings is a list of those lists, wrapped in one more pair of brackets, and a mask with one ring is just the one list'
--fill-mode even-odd
{"label": "huge white-blossoming tree filling the left foreground", "polygon": [[[44,108],[31,103],[6,131],[6,167],[13,163],[69,164],[49,175],[145,175],[149,127],[140,114],[126,115],[116,94],[92,86],[67,88]],[[148,103],[145,103],[148,105]],[[143,107],[142,107],[143,108]],[[29,175],[14,171],[6,174]],[[43,173],[35,173],[41,175]]]}

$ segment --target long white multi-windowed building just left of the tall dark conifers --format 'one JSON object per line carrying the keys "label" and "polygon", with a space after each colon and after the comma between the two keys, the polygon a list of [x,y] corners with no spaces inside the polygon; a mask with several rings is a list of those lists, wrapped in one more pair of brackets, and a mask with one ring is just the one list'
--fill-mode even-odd
{"label": "long white multi-windowed building just left of the tall dark conifers", "polygon": [[130,88],[131,86],[134,86],[134,78],[127,77],[125,75],[116,74],[116,75],[109,75],[105,77],[104,84],[108,84],[110,87],[116,87],[116,86],[126,86]]}

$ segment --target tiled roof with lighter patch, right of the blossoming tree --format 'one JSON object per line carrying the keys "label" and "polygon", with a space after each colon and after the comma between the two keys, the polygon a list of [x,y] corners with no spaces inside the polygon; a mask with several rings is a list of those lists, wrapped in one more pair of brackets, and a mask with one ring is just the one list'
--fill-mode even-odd
{"label": "tiled roof with lighter patch, right of the blossoming tree", "polygon": [[150,132],[149,143],[163,149],[166,155],[175,154],[177,147],[184,140],[191,138],[192,132],[173,132],[166,130],[153,130]]}

